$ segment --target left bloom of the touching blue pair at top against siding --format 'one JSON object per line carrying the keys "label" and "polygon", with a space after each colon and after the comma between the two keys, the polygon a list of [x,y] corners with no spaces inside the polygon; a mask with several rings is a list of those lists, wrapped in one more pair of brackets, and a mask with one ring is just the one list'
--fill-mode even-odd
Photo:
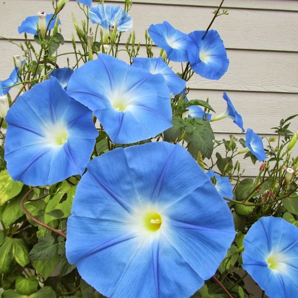
{"label": "left bloom of the touching blue pair at top against siding", "polygon": [[187,34],[175,29],[167,21],[162,24],[150,25],[148,33],[155,45],[166,52],[167,59],[176,62],[188,61]]}

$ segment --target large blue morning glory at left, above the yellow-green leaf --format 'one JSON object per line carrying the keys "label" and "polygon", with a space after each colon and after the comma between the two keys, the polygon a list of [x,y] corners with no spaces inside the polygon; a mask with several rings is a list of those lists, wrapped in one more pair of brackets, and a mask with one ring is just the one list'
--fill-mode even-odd
{"label": "large blue morning glory at left, above the yellow-green leaf", "polygon": [[58,80],[38,83],[7,112],[7,171],[13,180],[46,185],[82,175],[98,135],[92,112]]}

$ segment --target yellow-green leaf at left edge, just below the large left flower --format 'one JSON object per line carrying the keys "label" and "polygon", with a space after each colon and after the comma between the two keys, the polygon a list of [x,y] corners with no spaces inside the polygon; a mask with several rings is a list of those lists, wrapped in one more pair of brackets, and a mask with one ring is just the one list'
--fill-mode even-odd
{"label": "yellow-green leaf at left edge, just below the large left flower", "polygon": [[0,205],[12,199],[20,193],[23,183],[11,179],[7,170],[0,172]]}

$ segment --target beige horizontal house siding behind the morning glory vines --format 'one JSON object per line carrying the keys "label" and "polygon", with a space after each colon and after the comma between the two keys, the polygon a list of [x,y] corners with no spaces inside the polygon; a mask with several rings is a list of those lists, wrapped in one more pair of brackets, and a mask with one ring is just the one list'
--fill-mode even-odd
{"label": "beige horizontal house siding behind the morning glory vines", "polygon": [[[0,36],[17,39],[17,27],[28,15],[38,11],[52,11],[52,0],[3,0],[0,2]],[[96,1],[93,1],[96,4]],[[106,3],[122,4],[123,1]],[[176,29],[189,33],[204,30],[211,21],[220,0],[135,0],[130,14],[134,18],[136,40],[144,45],[145,29],[152,23],[167,20]],[[262,136],[270,136],[270,128],[281,118],[298,113],[298,1],[297,0],[225,0],[229,15],[218,17],[212,28],[219,31],[230,65],[218,81],[194,75],[188,82],[189,99],[206,99],[220,113],[225,109],[222,99],[226,91],[237,111],[242,115],[244,127],[252,128]],[[71,50],[71,32],[74,32],[71,13],[81,18],[75,0],[70,0],[61,13],[62,34],[66,43],[61,52]],[[124,34],[123,41],[125,41]],[[144,47],[142,48],[144,53]],[[19,49],[0,39],[0,80],[12,69],[12,56]],[[156,55],[159,50],[156,49]],[[59,61],[60,66],[66,60]],[[179,64],[174,69],[179,71]],[[293,120],[293,130],[298,119]],[[218,138],[230,133],[241,136],[240,129],[230,119],[212,123]],[[244,137],[242,135],[242,137]],[[296,153],[298,149],[296,149]],[[249,162],[246,162],[249,164]],[[248,166],[246,175],[254,175],[256,167]]]}

